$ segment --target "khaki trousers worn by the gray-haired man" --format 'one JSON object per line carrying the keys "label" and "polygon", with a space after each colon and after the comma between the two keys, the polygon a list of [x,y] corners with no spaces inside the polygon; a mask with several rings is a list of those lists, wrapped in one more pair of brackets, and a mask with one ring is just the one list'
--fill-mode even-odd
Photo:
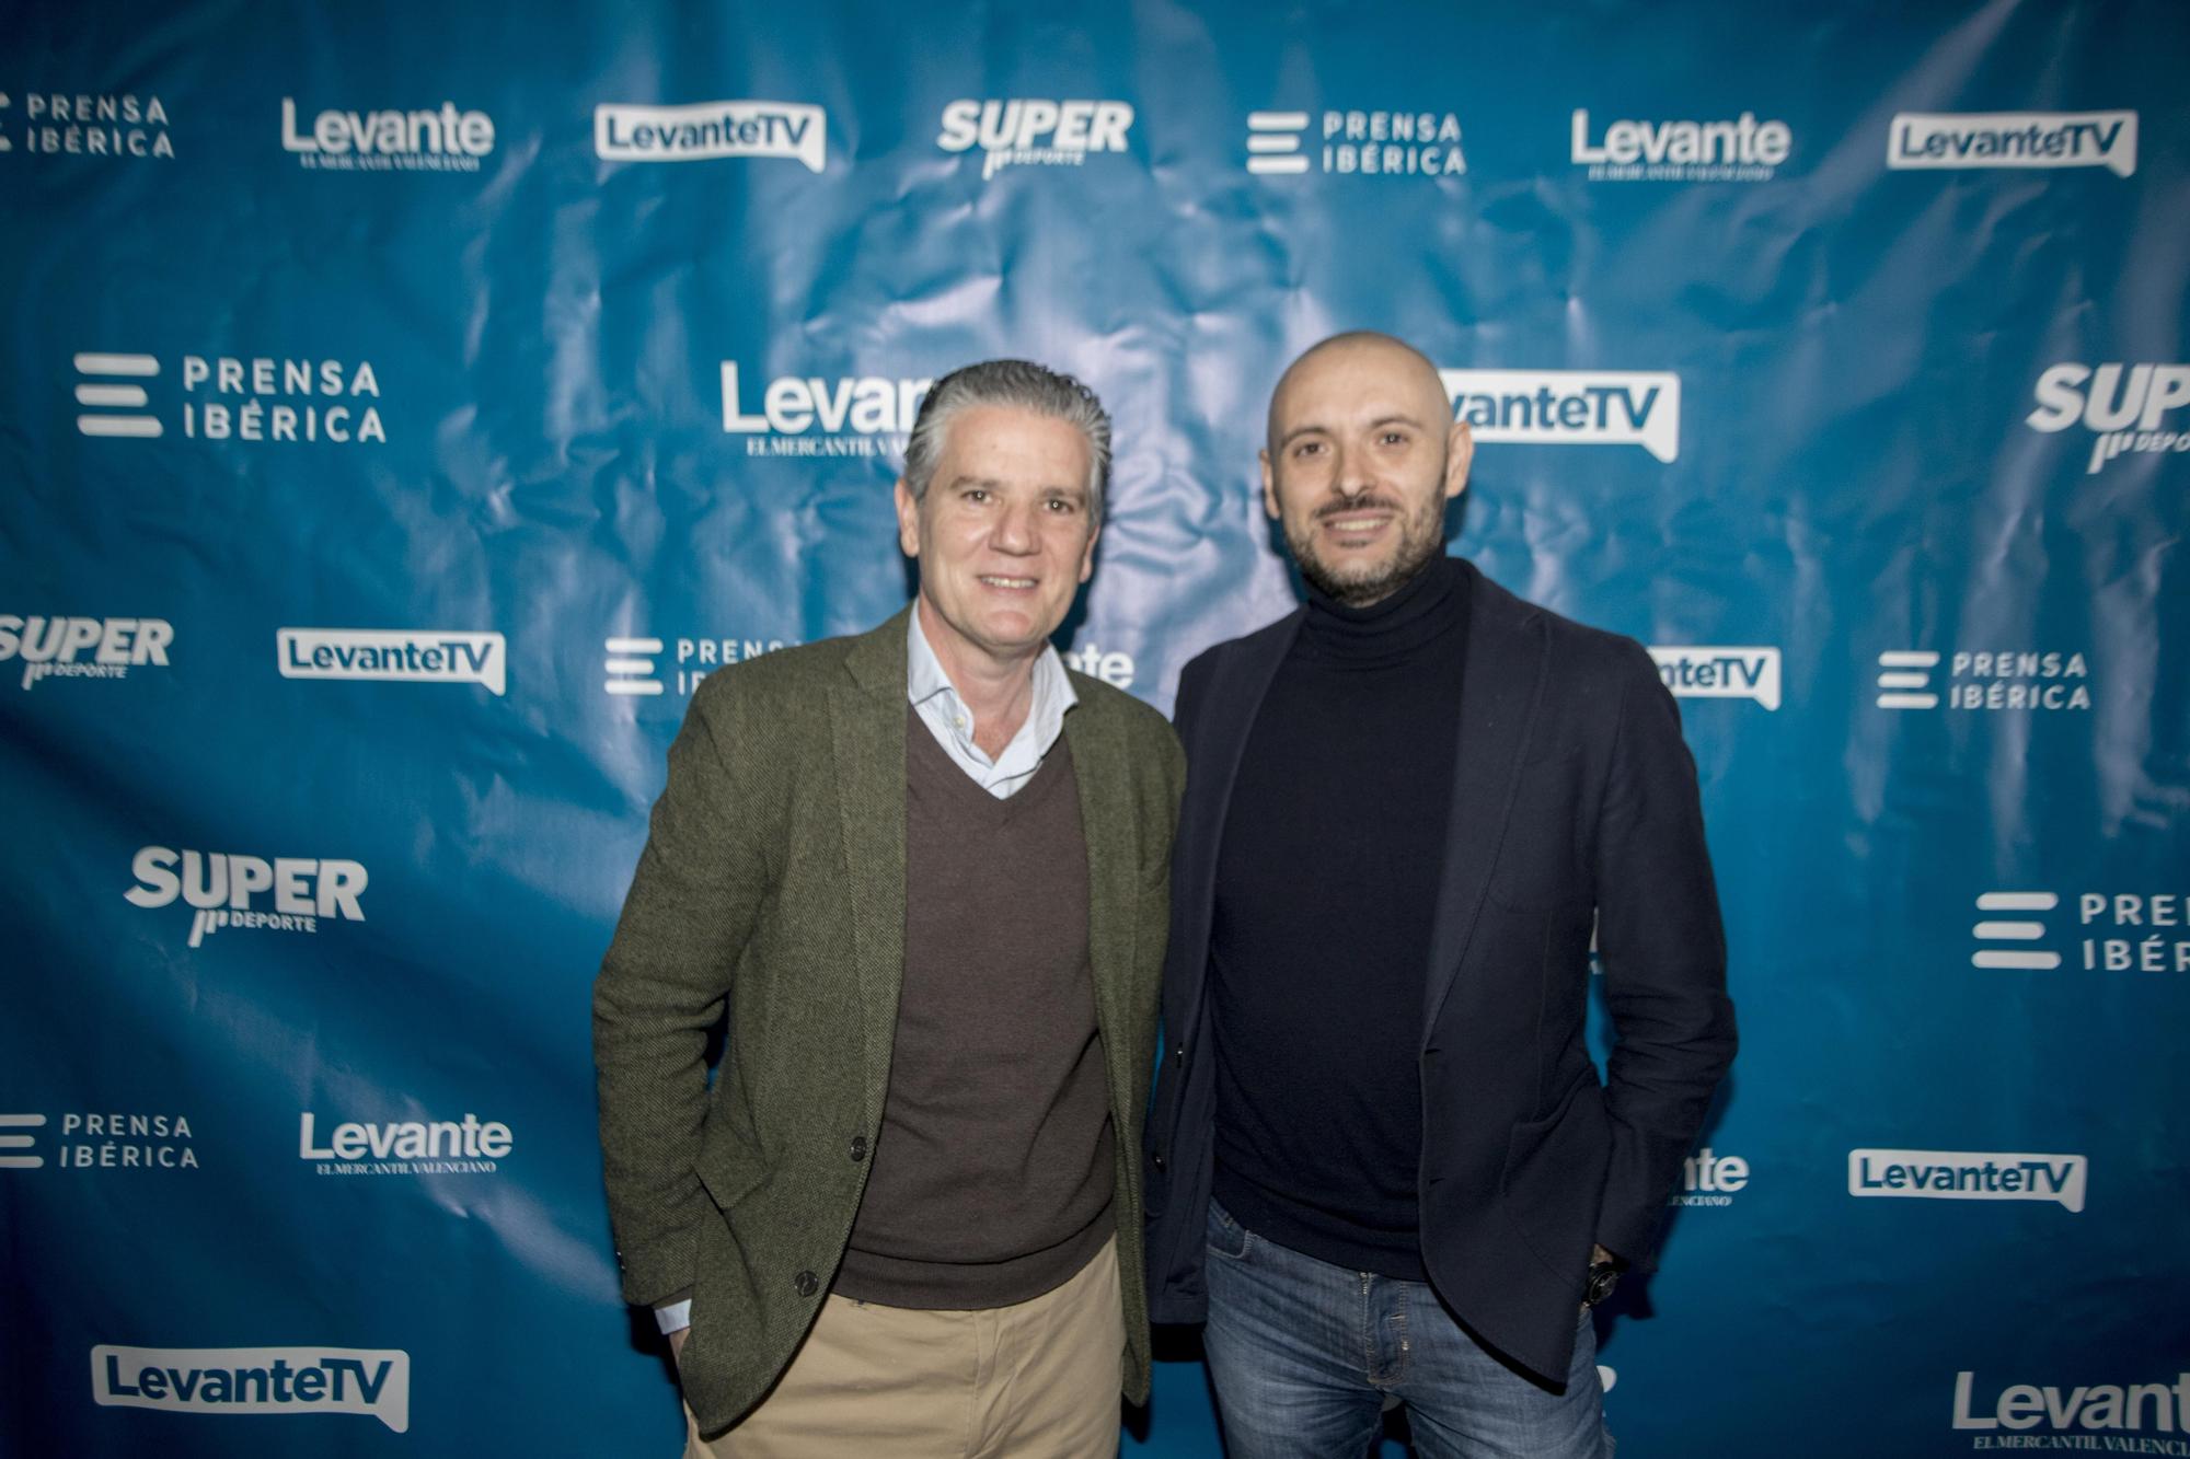
{"label": "khaki trousers worn by the gray-haired man", "polygon": [[760,1406],[685,1459],[1117,1455],[1126,1319],[1117,1240],[1034,1301],[922,1312],[830,1293]]}

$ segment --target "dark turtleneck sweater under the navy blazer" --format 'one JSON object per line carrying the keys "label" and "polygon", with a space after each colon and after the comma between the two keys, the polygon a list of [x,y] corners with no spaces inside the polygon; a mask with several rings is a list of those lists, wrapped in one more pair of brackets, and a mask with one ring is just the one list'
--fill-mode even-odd
{"label": "dark turtleneck sweater under the navy blazer", "polygon": [[1215,1196],[1250,1231],[1421,1282],[1421,1001],[1452,802],[1467,567],[1310,589],[1218,850]]}

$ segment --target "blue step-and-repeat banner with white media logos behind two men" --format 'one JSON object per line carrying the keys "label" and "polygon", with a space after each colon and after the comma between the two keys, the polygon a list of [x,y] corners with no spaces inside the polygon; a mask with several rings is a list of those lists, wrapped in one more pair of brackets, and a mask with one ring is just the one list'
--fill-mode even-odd
{"label": "blue step-and-repeat banner with white media logos behind two men", "polygon": [[[0,15],[0,1450],[668,1455],[589,981],[694,686],[1117,418],[1075,664],[1294,605],[1277,370],[1682,697],[1743,1049],[1632,1455],[2190,1452],[2175,4]],[[1215,1455],[1191,1334],[1128,1452]]]}

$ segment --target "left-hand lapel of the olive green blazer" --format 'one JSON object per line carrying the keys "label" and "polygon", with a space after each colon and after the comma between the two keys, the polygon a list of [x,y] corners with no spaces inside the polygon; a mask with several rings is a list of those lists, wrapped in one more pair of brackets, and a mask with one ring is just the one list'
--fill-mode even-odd
{"label": "left-hand lapel of the olive green blazer", "polygon": [[883,1108],[904,984],[904,618],[858,635],[828,694],[869,1111]]}

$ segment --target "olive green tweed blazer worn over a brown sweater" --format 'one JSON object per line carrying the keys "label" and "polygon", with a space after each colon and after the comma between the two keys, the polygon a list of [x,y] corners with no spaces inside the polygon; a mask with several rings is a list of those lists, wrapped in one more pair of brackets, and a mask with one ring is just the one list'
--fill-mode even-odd
{"label": "olive green tweed blazer worn over a brown sweater", "polygon": [[[707,1433],[766,1393],[821,1310],[883,1122],[904,970],[904,620],[701,681],[593,984],[624,1299],[692,1297],[683,1391]],[[1130,694],[1084,675],[1073,690],[1123,1391],[1145,1402],[1139,1152],[1185,756]]]}

